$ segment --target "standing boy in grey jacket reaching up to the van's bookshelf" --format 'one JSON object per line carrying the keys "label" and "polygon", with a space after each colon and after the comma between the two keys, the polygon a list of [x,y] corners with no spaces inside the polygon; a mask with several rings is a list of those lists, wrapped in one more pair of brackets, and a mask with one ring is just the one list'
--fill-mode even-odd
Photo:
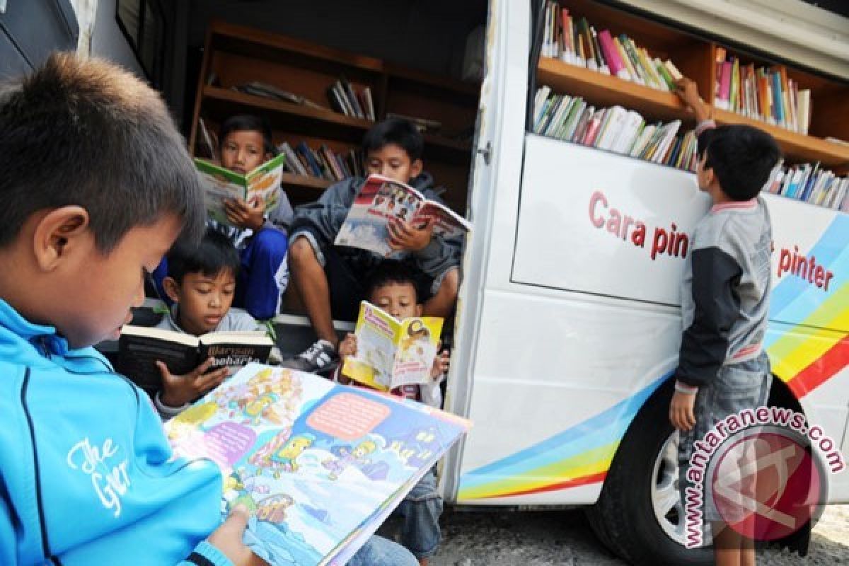
{"label": "standing boy in grey jacket reaching up to the van's bookshelf", "polygon": [[[683,79],[679,87],[699,120],[696,179],[713,201],[695,227],[684,274],[684,330],[669,407],[672,426],[681,431],[683,494],[694,441],[722,418],[765,405],[769,395],[772,374],[762,340],[773,236],[757,195],[780,152],[772,136],[751,126],[717,128],[694,82]],[[704,513],[711,521],[717,564],[754,564],[753,541],[728,528],[712,496],[705,497]]]}

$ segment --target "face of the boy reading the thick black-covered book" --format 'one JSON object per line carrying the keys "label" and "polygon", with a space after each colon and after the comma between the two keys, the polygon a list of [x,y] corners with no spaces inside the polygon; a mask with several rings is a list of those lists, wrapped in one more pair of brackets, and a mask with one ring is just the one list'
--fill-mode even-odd
{"label": "face of the boy reading the thick black-covered book", "polygon": [[229,269],[223,269],[212,277],[203,273],[187,273],[179,284],[166,277],[165,288],[171,300],[179,305],[177,324],[186,332],[200,336],[214,331],[230,310],[236,277]]}

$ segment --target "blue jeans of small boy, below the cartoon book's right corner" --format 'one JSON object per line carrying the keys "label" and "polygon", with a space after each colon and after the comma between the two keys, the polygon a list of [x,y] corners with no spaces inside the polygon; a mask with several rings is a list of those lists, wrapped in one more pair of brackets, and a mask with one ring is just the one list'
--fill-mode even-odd
{"label": "blue jeans of small boy, below the cartoon book's right corner", "polygon": [[419,479],[396,513],[404,518],[401,544],[413,552],[416,558],[430,558],[436,554],[442,540],[439,530],[442,498],[436,492],[436,469],[431,468]]}

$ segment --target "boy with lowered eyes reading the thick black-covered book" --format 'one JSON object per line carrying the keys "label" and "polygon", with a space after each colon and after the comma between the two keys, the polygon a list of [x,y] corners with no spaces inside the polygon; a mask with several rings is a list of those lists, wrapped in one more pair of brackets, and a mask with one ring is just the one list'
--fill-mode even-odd
{"label": "boy with lowered eyes reading the thick black-covered book", "polygon": [[[200,245],[178,243],[168,252],[168,277],[162,281],[173,301],[171,314],[157,328],[200,336],[208,332],[262,330],[246,311],[231,308],[239,254],[222,233],[207,228]],[[156,366],[162,375],[162,390],[154,397],[156,409],[164,418],[173,417],[188,404],[227,378],[227,367],[207,373],[212,359],[186,375],[172,375],[162,361]]]}

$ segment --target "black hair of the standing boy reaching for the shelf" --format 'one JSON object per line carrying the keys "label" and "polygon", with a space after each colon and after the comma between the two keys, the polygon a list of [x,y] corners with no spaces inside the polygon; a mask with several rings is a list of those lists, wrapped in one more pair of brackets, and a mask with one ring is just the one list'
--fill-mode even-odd
{"label": "black hair of the standing boy reaching for the shelf", "polygon": [[754,199],[781,157],[773,137],[752,126],[706,130],[697,145],[699,159],[707,155],[705,169],[713,170],[722,192],[734,200]]}

